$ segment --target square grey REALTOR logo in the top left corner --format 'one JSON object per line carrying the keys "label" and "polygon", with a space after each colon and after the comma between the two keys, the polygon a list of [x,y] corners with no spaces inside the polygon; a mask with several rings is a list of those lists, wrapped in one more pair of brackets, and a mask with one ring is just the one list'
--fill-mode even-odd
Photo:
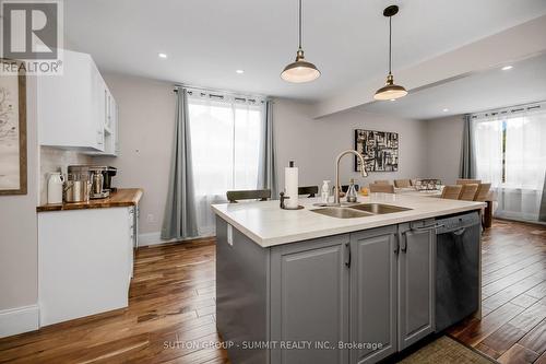
{"label": "square grey REALTOR logo in the top left corner", "polygon": [[[61,0],[0,0],[0,58],[23,61],[26,73],[59,74],[62,52]],[[1,72],[13,70],[2,69]]]}

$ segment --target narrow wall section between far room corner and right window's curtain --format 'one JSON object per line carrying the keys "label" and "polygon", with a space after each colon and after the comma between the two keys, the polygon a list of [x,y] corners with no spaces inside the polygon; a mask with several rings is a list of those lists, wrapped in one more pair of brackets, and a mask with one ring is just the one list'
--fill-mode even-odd
{"label": "narrow wall section between far room corner and right window's curtain", "polygon": [[459,178],[464,121],[462,115],[427,120],[427,174],[452,185]]}

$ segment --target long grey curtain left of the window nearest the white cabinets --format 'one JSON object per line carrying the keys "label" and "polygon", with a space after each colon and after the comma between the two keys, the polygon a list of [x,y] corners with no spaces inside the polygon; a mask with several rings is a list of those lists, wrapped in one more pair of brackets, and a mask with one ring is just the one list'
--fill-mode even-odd
{"label": "long grey curtain left of the window nearest the white cabinets", "polygon": [[191,168],[191,141],[188,118],[188,92],[177,89],[175,141],[170,161],[169,187],[163,239],[183,239],[198,236],[195,199]]}

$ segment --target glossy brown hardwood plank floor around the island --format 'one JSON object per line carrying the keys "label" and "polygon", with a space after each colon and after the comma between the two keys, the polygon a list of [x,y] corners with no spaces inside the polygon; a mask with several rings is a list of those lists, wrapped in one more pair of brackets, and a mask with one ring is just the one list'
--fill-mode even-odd
{"label": "glossy brown hardwood plank floor around the island", "polygon": [[[451,334],[502,363],[546,363],[546,227],[496,221],[483,249],[485,316]],[[141,248],[127,309],[0,339],[0,363],[227,363],[214,259],[213,239]]]}

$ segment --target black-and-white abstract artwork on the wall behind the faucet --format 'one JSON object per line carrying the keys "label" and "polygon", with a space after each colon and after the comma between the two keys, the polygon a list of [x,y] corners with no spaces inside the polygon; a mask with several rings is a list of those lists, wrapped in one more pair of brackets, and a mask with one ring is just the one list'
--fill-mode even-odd
{"label": "black-and-white abstract artwork on the wall behind the faucet", "polygon": [[[364,156],[368,172],[399,171],[399,133],[390,131],[355,130],[355,150]],[[355,172],[360,164],[355,156]]]}

